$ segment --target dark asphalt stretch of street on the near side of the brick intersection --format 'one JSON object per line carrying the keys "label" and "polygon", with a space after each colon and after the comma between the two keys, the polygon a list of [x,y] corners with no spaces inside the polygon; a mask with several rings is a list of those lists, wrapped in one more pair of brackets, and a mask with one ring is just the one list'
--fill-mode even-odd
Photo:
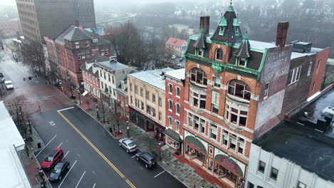
{"label": "dark asphalt stretch of street on the near side of the brick intersection", "polygon": [[118,140],[77,106],[36,113],[32,121],[46,143],[36,153],[39,162],[60,147],[64,160],[71,163],[64,182],[52,183],[53,187],[185,187],[159,165],[146,169],[133,157],[135,153],[126,153]]}

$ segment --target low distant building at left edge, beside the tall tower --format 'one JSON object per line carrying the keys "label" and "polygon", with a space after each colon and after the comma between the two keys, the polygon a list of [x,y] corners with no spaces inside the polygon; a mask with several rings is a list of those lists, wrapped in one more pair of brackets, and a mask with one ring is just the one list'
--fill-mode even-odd
{"label": "low distant building at left edge, beside the tall tower", "polygon": [[19,19],[0,21],[0,38],[16,37],[22,34],[21,23]]}

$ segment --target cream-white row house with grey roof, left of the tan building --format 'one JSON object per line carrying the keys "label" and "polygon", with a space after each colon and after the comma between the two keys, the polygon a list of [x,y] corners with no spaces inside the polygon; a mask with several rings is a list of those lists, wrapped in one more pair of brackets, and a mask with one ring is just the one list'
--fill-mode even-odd
{"label": "cream-white row house with grey roof, left of the tan building", "polygon": [[[102,61],[95,63],[98,68],[100,79],[101,99],[108,103],[112,109],[117,108],[116,90],[121,83],[124,83],[126,75],[136,72],[136,69],[126,66],[111,58],[110,61]],[[124,85],[124,84],[123,84]],[[126,85],[124,85],[126,87]]]}

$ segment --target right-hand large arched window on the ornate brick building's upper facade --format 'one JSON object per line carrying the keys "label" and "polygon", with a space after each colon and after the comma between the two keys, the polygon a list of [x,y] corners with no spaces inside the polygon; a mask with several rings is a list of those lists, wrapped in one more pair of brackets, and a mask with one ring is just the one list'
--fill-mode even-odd
{"label": "right-hand large arched window on the ornate brick building's upper facade", "polygon": [[251,88],[241,80],[231,80],[228,83],[228,94],[246,100],[251,99]]}

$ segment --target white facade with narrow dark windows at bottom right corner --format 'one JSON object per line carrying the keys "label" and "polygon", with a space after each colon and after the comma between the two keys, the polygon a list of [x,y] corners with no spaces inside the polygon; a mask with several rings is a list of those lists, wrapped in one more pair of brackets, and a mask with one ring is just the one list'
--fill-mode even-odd
{"label": "white facade with narrow dark windows at bottom right corner", "polygon": [[333,182],[254,144],[251,145],[246,185],[248,188],[334,187]]}

